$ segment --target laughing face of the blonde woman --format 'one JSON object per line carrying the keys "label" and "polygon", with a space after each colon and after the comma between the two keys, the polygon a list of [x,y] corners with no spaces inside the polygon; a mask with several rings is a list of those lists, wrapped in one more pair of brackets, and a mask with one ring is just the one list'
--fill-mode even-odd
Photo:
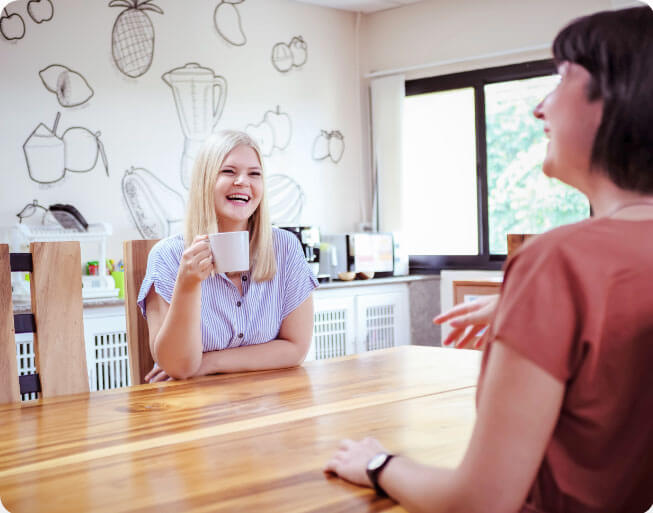
{"label": "laughing face of the blonde woman", "polygon": [[240,145],[227,154],[213,198],[221,232],[247,230],[247,221],[263,198],[261,163],[254,149]]}

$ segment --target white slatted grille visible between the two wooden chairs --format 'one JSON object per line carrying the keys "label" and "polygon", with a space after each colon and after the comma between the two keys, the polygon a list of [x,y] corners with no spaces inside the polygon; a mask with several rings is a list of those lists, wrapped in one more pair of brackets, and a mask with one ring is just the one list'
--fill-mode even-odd
{"label": "white slatted grille visible between the two wooden chairs", "polygon": [[92,392],[131,385],[127,333],[96,333],[93,355],[95,361],[92,364],[89,362],[89,386]]}

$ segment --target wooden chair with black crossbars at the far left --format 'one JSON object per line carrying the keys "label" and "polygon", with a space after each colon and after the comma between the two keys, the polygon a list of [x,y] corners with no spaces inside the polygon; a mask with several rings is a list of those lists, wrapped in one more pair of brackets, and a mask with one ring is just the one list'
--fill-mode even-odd
{"label": "wooden chair with black crossbars at the far left", "polygon": [[[32,242],[30,253],[0,244],[0,403],[89,391],[81,269],[79,242]],[[13,313],[12,271],[30,273],[32,313]],[[15,334],[30,332],[37,373],[19,377]]]}

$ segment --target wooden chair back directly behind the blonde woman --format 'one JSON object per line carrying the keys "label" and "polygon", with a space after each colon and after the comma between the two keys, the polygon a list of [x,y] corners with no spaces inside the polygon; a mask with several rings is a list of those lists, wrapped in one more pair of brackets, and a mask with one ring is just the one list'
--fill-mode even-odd
{"label": "wooden chair back directly behind the blonde woman", "polygon": [[154,365],[147,322],[141,315],[136,299],[147,270],[147,256],[157,242],[157,240],[128,240],[123,243],[129,370],[134,385],[145,383],[145,375]]}

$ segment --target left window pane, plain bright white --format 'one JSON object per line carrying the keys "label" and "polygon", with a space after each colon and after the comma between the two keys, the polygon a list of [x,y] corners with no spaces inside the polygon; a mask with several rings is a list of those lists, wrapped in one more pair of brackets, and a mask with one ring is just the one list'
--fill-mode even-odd
{"label": "left window pane, plain bright white", "polygon": [[474,89],[407,96],[402,158],[408,253],[477,255]]}

